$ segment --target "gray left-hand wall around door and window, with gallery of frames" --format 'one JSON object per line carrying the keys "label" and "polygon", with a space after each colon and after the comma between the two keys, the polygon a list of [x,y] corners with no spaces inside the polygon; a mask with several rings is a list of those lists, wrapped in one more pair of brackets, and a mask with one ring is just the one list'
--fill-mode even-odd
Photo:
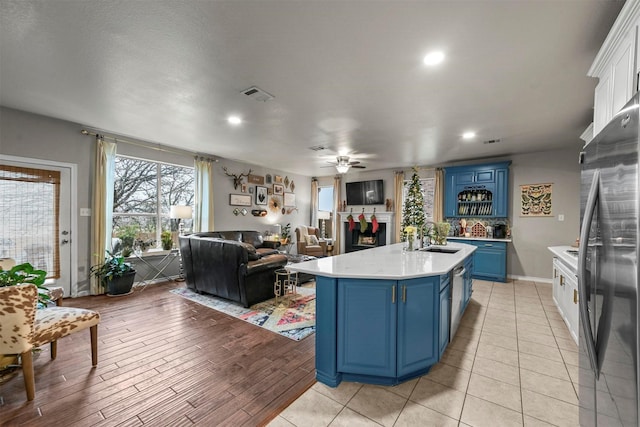
{"label": "gray left-hand wall around door and window, with gallery of frames", "polygon": [[[0,107],[0,154],[27,157],[33,159],[53,160],[77,165],[78,182],[72,191],[77,192],[78,209],[90,208],[91,185],[93,176],[94,141],[91,136],[80,134],[84,127],[77,123],[71,123],[37,114],[26,113],[6,107]],[[193,156],[159,151],[151,148],[140,147],[125,143],[118,143],[118,153],[134,157],[164,161],[174,164],[193,165]],[[222,170],[227,166],[231,173],[247,172],[253,169],[253,174],[281,175],[286,173],[273,168],[247,165],[240,162],[220,159],[214,163],[214,221],[216,230],[269,230],[273,224],[291,223],[291,232],[297,225],[308,224],[310,221],[309,200],[311,192],[311,179],[300,175],[288,174],[289,179],[295,182],[296,203],[298,210],[291,214],[273,213],[266,217],[254,217],[250,213],[247,216],[233,215],[233,208],[229,206],[229,194],[240,193],[233,189],[231,178]],[[246,179],[245,179],[246,182]],[[290,191],[286,189],[285,191]],[[255,200],[252,195],[252,200]],[[257,206],[247,207],[250,211]],[[91,221],[90,217],[81,217],[79,212],[77,269],[78,291],[88,289],[89,281],[87,272],[91,262]],[[294,235],[295,237],[295,235]],[[72,288],[74,284],[72,284]]]}

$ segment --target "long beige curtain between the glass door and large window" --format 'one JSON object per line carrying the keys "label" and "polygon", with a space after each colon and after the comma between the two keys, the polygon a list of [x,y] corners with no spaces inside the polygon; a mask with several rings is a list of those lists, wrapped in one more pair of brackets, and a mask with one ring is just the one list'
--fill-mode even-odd
{"label": "long beige curtain between the glass door and large window", "polygon": [[[101,264],[105,250],[111,249],[113,217],[113,184],[115,174],[116,144],[96,135],[96,157],[93,171],[93,215],[91,216],[91,264]],[[91,280],[91,294],[103,292],[100,280]]]}

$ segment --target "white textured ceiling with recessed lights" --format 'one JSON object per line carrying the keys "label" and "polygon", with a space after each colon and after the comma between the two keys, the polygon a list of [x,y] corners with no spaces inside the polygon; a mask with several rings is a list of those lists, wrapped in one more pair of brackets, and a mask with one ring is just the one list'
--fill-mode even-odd
{"label": "white textured ceiling with recessed lights", "polygon": [[0,104],[307,176],[578,147],[622,5],[0,0]]}

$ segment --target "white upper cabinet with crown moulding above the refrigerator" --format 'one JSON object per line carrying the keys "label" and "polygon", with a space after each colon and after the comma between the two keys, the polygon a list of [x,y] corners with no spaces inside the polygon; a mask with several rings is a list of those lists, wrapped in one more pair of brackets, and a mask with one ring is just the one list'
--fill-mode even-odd
{"label": "white upper cabinet with crown moulding above the refrigerator", "polygon": [[587,73],[598,79],[593,108],[593,135],[627,103],[637,88],[640,69],[640,1],[625,3]]}

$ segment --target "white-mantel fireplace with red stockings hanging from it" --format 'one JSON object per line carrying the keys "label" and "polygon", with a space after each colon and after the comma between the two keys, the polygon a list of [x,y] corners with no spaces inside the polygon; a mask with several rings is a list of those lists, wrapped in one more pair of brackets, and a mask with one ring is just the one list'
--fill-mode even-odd
{"label": "white-mantel fireplace with red stockings hanging from it", "polygon": [[349,222],[347,217],[349,212],[340,212],[340,219],[342,221],[342,236],[340,239],[341,253],[354,252],[363,249],[375,248],[377,246],[384,246],[393,243],[391,241],[391,230],[393,228],[393,212],[376,212],[376,219],[378,221],[378,230],[373,233],[373,225],[371,224],[371,215],[373,212],[364,212],[367,222],[367,229],[364,232],[360,231],[360,221],[358,221],[358,214],[352,214],[355,220],[355,228],[353,231],[349,231]]}

